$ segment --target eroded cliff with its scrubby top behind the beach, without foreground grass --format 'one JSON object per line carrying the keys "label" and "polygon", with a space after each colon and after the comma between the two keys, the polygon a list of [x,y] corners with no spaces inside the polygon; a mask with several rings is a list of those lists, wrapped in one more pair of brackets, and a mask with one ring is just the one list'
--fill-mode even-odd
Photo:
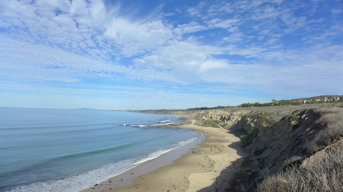
{"label": "eroded cliff with its scrubby top behind the beach, without foreground grass", "polygon": [[[252,187],[265,191],[261,188],[261,183],[267,183],[265,176],[289,167],[301,170],[318,156],[325,159],[327,151],[342,148],[342,114],[342,108],[319,104],[203,110],[195,111],[191,118],[200,126],[216,122],[214,127],[224,127],[242,138],[250,155],[244,157],[248,165],[240,169],[246,179],[239,182],[247,186],[246,191]],[[238,186],[227,189],[236,190]]]}

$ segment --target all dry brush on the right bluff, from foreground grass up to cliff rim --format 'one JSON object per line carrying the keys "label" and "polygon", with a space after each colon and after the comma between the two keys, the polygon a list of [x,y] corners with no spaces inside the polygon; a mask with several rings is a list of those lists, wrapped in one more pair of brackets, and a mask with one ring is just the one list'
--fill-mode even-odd
{"label": "all dry brush on the right bluff, from foreground grass up to cliff rim", "polygon": [[[343,191],[343,148],[339,143],[343,137],[343,111],[340,108],[316,108],[323,114],[318,120],[326,128],[319,131],[304,145],[305,157],[295,155],[285,160],[284,168],[258,183],[259,192],[310,192]],[[292,118],[293,116],[291,116]],[[337,148],[326,149],[336,143]],[[318,151],[324,150],[324,153]],[[316,154],[316,157],[312,155]]]}

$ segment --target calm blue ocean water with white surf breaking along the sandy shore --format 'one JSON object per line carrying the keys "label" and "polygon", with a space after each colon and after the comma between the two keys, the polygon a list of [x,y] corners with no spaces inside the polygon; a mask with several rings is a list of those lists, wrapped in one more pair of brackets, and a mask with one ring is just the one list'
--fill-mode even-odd
{"label": "calm blue ocean water with white surf breaking along the sandy shore", "polygon": [[165,114],[0,108],[0,191],[80,191],[201,135],[154,128],[178,123]]}

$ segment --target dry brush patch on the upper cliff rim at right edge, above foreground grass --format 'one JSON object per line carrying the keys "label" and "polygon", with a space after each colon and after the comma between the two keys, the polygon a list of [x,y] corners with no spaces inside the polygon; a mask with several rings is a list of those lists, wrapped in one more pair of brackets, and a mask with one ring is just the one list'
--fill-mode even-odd
{"label": "dry brush patch on the upper cliff rim at right edge, above foreground grass", "polygon": [[309,154],[323,149],[343,136],[342,108],[318,108],[317,112],[323,113],[319,121],[328,126],[305,143],[304,147]]}

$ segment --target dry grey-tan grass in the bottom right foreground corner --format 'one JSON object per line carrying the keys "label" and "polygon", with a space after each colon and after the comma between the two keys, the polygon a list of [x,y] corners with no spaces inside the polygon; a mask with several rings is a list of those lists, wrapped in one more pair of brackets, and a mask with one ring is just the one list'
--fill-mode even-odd
{"label": "dry grey-tan grass in the bottom right foreground corner", "polygon": [[343,191],[343,148],[326,152],[306,165],[291,166],[285,172],[267,176],[258,184],[259,192]]}

